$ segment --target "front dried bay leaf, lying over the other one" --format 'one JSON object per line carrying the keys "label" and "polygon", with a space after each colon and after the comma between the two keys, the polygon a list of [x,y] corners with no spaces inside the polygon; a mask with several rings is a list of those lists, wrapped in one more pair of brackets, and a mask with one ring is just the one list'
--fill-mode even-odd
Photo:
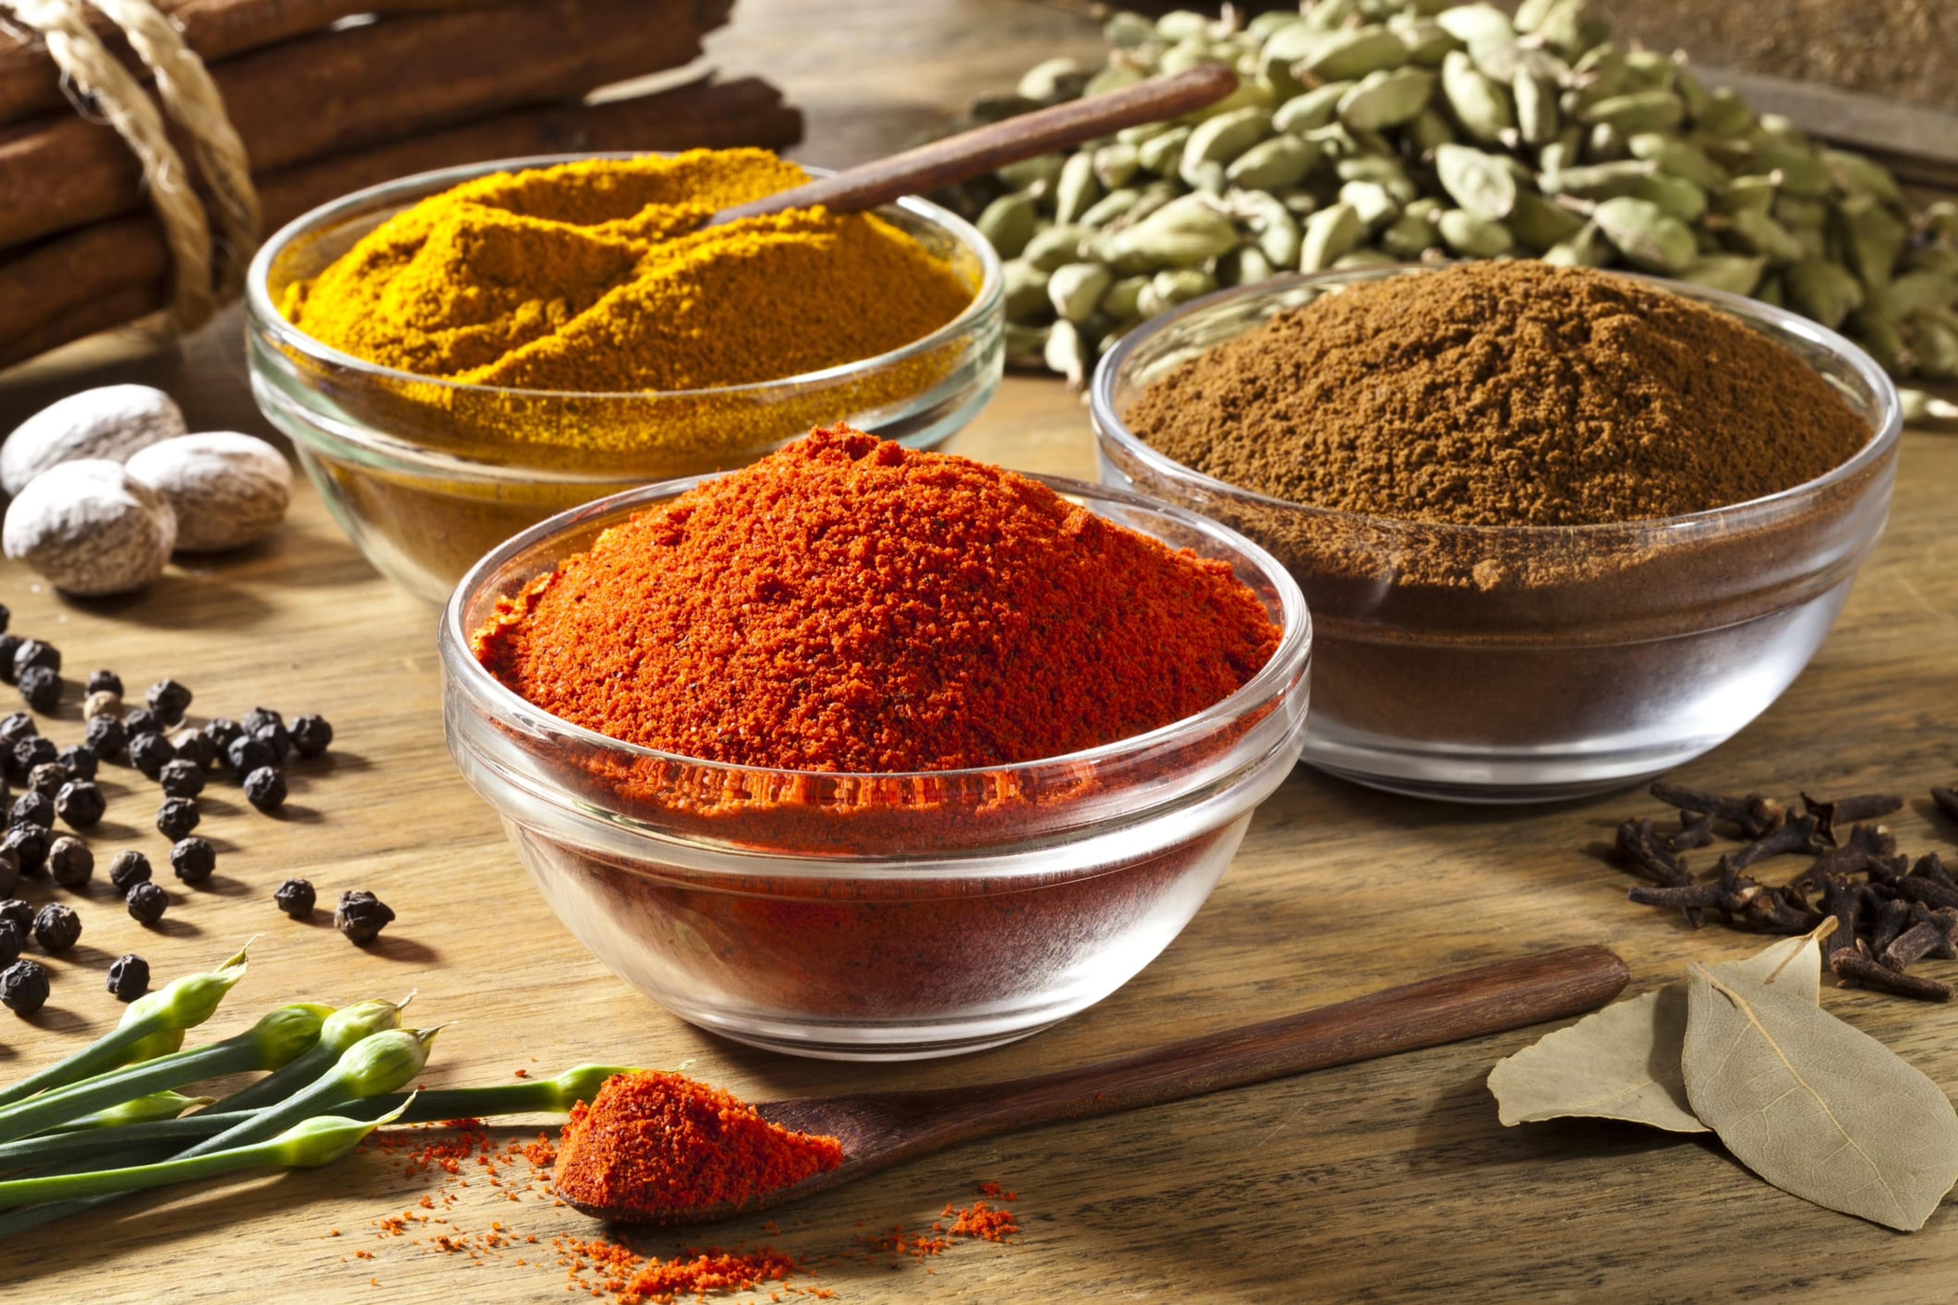
{"label": "front dried bay leaf, lying over the other one", "polygon": [[1799,986],[1688,967],[1684,1070],[1727,1150],[1807,1201],[1913,1233],[1958,1182],[1944,1092]]}

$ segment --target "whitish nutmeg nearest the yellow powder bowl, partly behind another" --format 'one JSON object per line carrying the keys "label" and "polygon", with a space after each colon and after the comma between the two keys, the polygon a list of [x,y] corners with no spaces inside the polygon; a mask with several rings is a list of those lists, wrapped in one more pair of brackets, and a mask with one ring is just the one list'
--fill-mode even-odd
{"label": "whitish nutmeg nearest the yellow powder bowl, partly behind another", "polygon": [[186,552],[241,548],[278,528],[292,503],[292,468],[264,440],[235,430],[184,434],[129,458],[129,475],[176,513]]}

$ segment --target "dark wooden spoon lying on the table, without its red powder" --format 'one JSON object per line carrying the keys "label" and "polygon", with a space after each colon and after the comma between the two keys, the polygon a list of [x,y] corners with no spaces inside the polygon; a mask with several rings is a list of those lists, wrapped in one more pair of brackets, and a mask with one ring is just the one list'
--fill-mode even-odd
{"label": "dark wooden spoon lying on the table, without its red powder", "polygon": [[975,1137],[1159,1105],[1576,1015],[1609,1002],[1627,978],[1625,963],[1615,953],[1604,947],[1566,947],[1038,1078],[936,1092],[764,1102],[756,1109],[769,1123],[836,1137],[844,1145],[844,1162],[746,1205],[717,1203],[648,1215],[587,1205],[562,1190],[558,1195],[587,1215],[619,1223],[711,1223],[732,1213],[801,1201],[852,1178]]}

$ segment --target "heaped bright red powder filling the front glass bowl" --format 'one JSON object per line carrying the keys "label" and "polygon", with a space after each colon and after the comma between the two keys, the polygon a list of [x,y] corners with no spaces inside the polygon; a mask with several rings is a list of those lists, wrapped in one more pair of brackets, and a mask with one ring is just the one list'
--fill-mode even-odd
{"label": "heaped bright red powder filling the front glass bowl", "polygon": [[1194,716],[1279,634],[1222,562],[1024,475],[832,427],[605,530],[501,601],[474,652],[617,740],[891,773]]}

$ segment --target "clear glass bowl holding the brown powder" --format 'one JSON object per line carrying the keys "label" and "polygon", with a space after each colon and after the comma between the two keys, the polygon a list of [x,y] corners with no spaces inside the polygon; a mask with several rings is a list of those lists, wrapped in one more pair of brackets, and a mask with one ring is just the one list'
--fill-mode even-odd
{"label": "clear glass bowl holding the brown powder", "polygon": [[[1803,317],[1645,278],[1786,344],[1872,434],[1846,464],[1784,493],[1598,526],[1453,526],[1302,507],[1171,462],[1122,423],[1157,376],[1273,313],[1431,270],[1284,276],[1130,333],[1093,382],[1102,479],[1222,520],[1292,571],[1318,632],[1304,759],[1320,769],[1418,796],[1533,802],[1698,757],[1774,702],[1842,608],[1889,511],[1895,387],[1868,354]],[[1476,560],[1472,577],[1461,577],[1463,558]],[[1459,579],[1423,579],[1443,560]]]}

